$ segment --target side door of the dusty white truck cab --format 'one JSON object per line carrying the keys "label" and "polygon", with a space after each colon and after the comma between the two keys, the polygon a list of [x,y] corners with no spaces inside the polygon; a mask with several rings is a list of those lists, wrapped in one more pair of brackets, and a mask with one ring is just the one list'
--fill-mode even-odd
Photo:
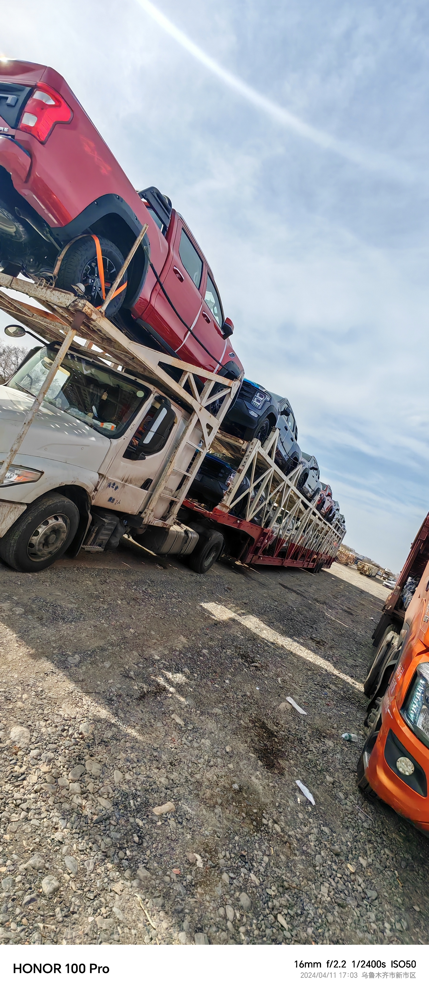
{"label": "side door of the dusty white truck cab", "polygon": [[160,475],[181,425],[182,416],[170,400],[153,395],[137,428],[134,425],[134,429],[120,438],[94,504],[121,513],[138,513]]}

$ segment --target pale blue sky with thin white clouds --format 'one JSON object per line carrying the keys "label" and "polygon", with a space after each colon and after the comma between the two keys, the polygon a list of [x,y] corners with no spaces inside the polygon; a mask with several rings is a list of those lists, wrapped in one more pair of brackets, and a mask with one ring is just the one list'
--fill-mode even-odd
{"label": "pale blue sky with thin white clouds", "polygon": [[171,197],[246,375],[393,571],[429,510],[428,36],[423,0],[15,0],[0,40]]}

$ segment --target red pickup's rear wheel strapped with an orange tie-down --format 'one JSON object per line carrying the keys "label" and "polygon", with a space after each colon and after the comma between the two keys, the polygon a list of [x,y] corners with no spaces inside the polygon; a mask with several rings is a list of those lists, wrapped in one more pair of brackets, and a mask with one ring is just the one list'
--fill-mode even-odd
{"label": "red pickup's rear wheel strapped with an orange tie-down", "polygon": [[[104,291],[105,296],[107,296],[113,280],[116,279],[119,269],[123,266],[124,258],[112,241],[108,241],[107,238],[98,238],[98,241],[103,263]],[[125,272],[121,285],[126,281],[127,273]],[[84,286],[86,300],[93,307],[100,307],[103,296],[98,272],[96,243],[90,235],[87,238],[79,238],[66,252],[56,285],[58,289],[72,292],[72,287],[77,283]],[[119,310],[124,302],[125,293],[126,289],[114,297],[107,307],[106,316],[113,316]]]}

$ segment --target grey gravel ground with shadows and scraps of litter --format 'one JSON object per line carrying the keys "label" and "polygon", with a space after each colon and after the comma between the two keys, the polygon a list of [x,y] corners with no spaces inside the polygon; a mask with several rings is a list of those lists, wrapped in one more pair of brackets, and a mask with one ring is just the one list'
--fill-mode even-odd
{"label": "grey gravel ground with shadows and scraps of litter", "polygon": [[365,583],[129,543],[0,566],[0,940],[423,943],[427,840],[360,797],[341,737]]}

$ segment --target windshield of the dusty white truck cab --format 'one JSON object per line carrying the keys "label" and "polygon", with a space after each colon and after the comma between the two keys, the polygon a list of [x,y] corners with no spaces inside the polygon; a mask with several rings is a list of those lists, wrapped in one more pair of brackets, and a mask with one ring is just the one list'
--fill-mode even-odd
{"label": "windshield of the dusty white truck cab", "polygon": [[[42,348],[15,373],[8,385],[37,396],[56,358],[55,348]],[[123,434],[147,400],[150,390],[126,379],[108,365],[96,365],[69,352],[52,382],[44,403],[71,414],[108,437]]]}

